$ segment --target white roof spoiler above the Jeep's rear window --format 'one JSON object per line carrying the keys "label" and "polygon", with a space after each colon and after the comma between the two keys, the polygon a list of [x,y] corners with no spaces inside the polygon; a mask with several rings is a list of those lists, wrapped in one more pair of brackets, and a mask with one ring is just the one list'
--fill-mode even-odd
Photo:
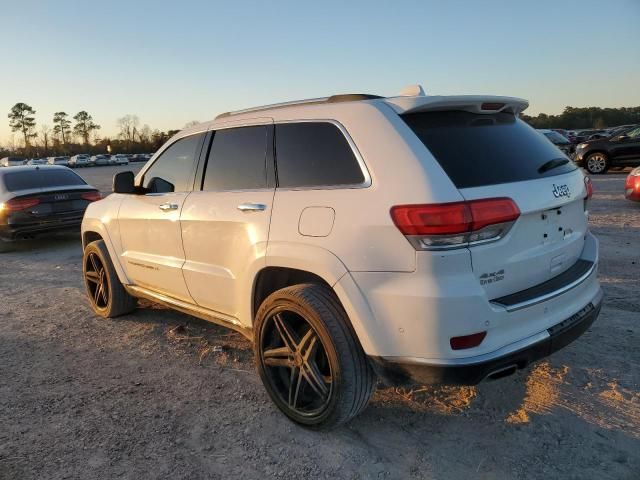
{"label": "white roof spoiler above the Jeep's rear window", "polygon": [[497,112],[519,114],[529,106],[522,98],[495,95],[416,96],[385,99],[398,114],[462,110],[471,113]]}

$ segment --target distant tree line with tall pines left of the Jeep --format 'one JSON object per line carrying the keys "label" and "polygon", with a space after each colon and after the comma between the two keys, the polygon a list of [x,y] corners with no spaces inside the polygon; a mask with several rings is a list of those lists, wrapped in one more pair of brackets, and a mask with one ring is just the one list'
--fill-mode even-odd
{"label": "distant tree line with tall pines left of the Jeep", "polygon": [[[43,124],[36,130],[36,111],[30,105],[16,103],[9,111],[9,127],[19,143],[0,148],[0,157],[17,155],[47,157],[75,155],[77,153],[149,153],[154,152],[178,130],[162,132],[149,125],[140,126],[136,115],[125,115],[117,120],[117,137],[99,137],[101,126],[85,110],[74,116],[60,111],[53,114],[53,128]],[[195,123],[195,122],[191,122]]]}

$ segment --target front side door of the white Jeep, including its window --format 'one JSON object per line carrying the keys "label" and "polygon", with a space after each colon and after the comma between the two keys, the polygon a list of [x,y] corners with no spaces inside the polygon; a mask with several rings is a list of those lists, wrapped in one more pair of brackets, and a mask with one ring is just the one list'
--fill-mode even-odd
{"label": "front side door of the white Jeep, including its window", "polygon": [[135,285],[190,301],[184,278],[180,212],[193,189],[205,133],[175,141],[145,171],[145,194],[129,194],[118,220],[122,265]]}

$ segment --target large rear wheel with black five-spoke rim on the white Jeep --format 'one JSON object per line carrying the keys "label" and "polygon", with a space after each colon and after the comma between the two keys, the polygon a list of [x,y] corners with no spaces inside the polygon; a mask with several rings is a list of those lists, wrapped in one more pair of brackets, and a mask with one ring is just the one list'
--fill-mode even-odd
{"label": "large rear wheel with black five-spoke rim on the white Jeep", "polygon": [[375,388],[347,314],[323,285],[295,285],[267,297],[256,314],[254,352],[273,402],[306,427],[349,421],[366,408]]}

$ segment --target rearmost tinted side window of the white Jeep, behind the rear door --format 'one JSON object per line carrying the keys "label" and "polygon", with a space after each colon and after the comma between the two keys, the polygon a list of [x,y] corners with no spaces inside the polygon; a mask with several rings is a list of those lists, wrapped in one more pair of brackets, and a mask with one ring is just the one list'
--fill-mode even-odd
{"label": "rearmost tinted side window of the white Jeep, behind the rear door", "polygon": [[331,123],[276,125],[278,186],[357,185],[362,169],[342,132]]}

